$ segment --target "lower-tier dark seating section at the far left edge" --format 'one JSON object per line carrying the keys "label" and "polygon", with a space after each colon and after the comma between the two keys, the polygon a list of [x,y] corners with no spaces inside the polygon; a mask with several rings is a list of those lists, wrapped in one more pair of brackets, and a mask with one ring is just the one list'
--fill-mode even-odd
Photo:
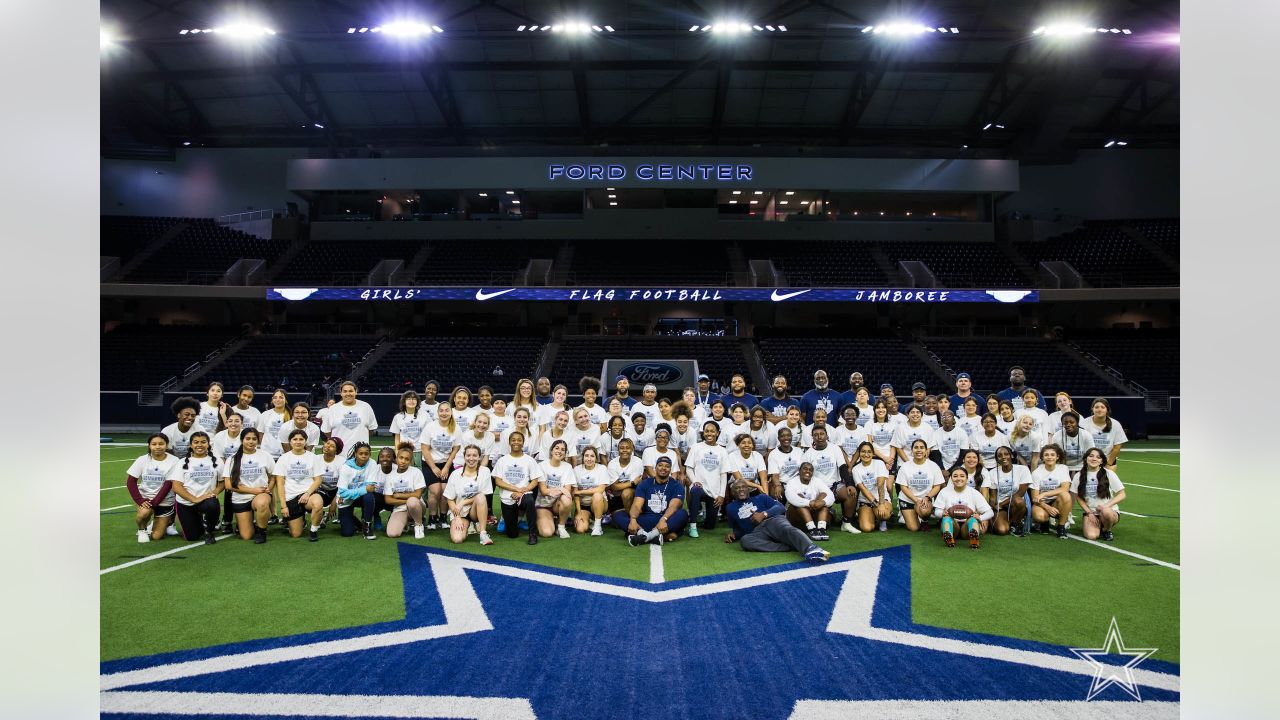
{"label": "lower-tier dark seating section at the far left edge", "polygon": [[101,337],[101,388],[160,384],[241,332],[219,325],[120,325]]}

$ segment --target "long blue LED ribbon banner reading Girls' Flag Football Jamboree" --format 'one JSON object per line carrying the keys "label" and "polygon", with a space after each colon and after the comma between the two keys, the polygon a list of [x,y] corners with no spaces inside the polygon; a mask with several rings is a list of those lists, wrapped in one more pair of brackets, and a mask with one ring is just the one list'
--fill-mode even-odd
{"label": "long blue LED ribbon banner reading Girls' Flag Football Jamboree", "polygon": [[1034,290],[851,287],[271,287],[268,300],[369,302],[1037,302]]}

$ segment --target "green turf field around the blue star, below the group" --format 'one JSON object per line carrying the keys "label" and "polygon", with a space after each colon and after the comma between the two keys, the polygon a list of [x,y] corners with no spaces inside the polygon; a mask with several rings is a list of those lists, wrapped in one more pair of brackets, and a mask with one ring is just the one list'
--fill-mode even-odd
{"label": "green turf field around the blue star, below the group", "polygon": [[[115,436],[140,442],[141,436]],[[887,533],[832,533],[823,543],[833,555],[891,546],[911,546],[913,614],[916,623],[1018,637],[1065,646],[1096,646],[1114,615],[1130,644],[1158,647],[1155,657],[1179,660],[1179,452],[1176,441],[1133,442],[1120,460],[1128,500],[1106,547],[1052,536],[991,537],[979,552],[946,548],[936,533],[908,533],[891,524]],[[1161,450],[1156,450],[1161,448]],[[1153,450],[1130,452],[1130,450]],[[271,528],[269,542],[255,546],[236,537],[216,546],[169,537],[140,544],[124,471],[145,448],[101,448],[101,659],[115,660],[229,642],[293,635],[403,618],[404,601],[397,542],[449,547],[477,556],[650,579],[649,552],[628,547],[621,533],[604,537],[494,537],[480,547],[472,536],[449,543],[445,532],[426,539],[343,538],[326,527],[320,542],[289,538]],[[1071,534],[1079,537],[1079,512]],[[662,548],[667,580],[696,578],[795,562],[790,553],[746,553],[724,544],[723,530],[699,539],[682,538]],[[963,544],[963,543],[961,543]],[[106,571],[166,551],[170,555]],[[1117,550],[1140,557],[1123,555]],[[1160,565],[1152,560],[1172,565]],[[977,584],[964,580],[978,579]],[[961,589],[973,588],[973,589]],[[975,592],[974,592],[975,591]],[[209,623],[182,633],[155,632],[155,620],[175,603],[187,616],[207,611]],[[332,609],[342,607],[342,612]],[[339,616],[340,615],[340,616]]]}

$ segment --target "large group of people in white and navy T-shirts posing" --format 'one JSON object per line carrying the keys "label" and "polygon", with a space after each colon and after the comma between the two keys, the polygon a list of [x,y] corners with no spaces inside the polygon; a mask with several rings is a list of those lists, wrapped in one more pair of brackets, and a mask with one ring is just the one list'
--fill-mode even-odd
{"label": "large group of people in white and navy T-shirts posing", "polygon": [[1106,398],[1080,413],[1059,392],[1050,413],[1016,366],[988,397],[960,373],[954,393],[916,382],[905,405],[888,383],[873,396],[860,373],[849,380],[840,392],[818,370],[792,397],[778,375],[755,397],[742,375],[722,395],[700,375],[672,401],[652,384],[632,396],[623,375],[602,398],[599,380],[582,378],[576,406],[545,377],[517,380],[511,396],[460,386],[444,397],[431,380],[401,396],[390,445],[376,451],[378,419],[353,382],[315,413],[282,389],[260,410],[248,386],[230,404],[211,383],[202,401],[174,401],[174,423],[147,438],[127,487],[138,542],[177,534],[174,519],[206,543],[223,530],[265,543],[275,524],[316,542],[334,523],[343,537],[444,529],[481,544],[490,530],[536,544],[612,525],[634,546],[724,521],[724,542],[822,562],[815,543],[837,510],[842,532],[936,521],[947,546],[978,548],[986,533],[1065,538],[1075,507],[1085,538],[1112,539],[1128,437]]}

